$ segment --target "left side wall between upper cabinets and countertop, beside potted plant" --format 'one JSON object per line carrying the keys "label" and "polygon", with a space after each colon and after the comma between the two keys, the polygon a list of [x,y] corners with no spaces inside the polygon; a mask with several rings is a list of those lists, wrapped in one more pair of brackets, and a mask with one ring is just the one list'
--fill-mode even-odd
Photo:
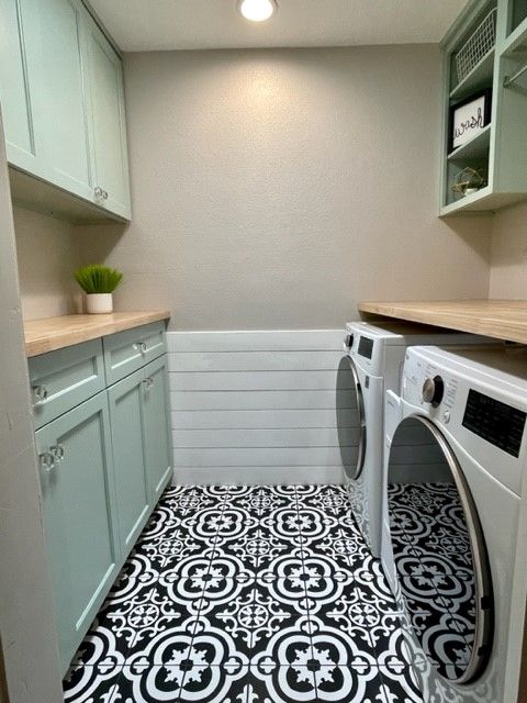
{"label": "left side wall between upper cabinets and countertop, beside potted plant", "polygon": [[80,236],[74,225],[14,208],[22,313],[25,320],[76,312]]}

